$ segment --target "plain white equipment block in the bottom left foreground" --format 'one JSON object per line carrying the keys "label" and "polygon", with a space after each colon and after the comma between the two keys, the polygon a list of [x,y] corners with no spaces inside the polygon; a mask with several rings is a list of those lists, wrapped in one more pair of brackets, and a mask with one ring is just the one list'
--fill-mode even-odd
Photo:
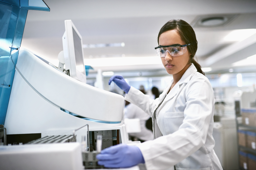
{"label": "plain white equipment block in the bottom left foreground", "polygon": [[1,170],[83,170],[78,143],[0,147]]}

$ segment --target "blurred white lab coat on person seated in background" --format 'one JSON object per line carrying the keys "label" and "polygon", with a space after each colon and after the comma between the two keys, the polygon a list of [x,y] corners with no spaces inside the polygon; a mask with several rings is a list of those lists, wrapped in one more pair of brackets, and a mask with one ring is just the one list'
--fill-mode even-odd
{"label": "blurred white lab coat on person seated in background", "polygon": [[132,103],[125,106],[124,112],[124,118],[140,119],[141,132],[129,133],[129,135],[145,141],[153,139],[152,131],[146,128],[146,121],[150,118],[150,116],[146,112],[144,112],[141,108]]}

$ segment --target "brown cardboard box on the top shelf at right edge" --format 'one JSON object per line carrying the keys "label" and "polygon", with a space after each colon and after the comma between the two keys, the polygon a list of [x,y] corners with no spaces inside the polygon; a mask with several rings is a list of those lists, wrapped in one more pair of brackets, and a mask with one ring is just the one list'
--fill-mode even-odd
{"label": "brown cardboard box on the top shelf at right edge", "polygon": [[256,126],[256,109],[242,109],[242,122],[244,125]]}

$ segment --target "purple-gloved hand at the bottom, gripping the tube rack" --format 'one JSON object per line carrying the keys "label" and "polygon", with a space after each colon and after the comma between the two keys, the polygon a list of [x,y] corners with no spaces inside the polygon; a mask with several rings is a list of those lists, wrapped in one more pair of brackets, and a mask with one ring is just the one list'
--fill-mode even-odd
{"label": "purple-gloved hand at the bottom, gripping the tube rack", "polygon": [[99,165],[104,165],[108,168],[132,167],[145,163],[140,149],[126,144],[106,148],[96,157],[99,160]]}

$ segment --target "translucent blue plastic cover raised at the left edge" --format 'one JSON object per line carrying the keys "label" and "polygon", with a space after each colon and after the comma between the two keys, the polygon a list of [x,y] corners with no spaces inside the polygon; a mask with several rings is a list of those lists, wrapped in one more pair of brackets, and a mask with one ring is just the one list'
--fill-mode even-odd
{"label": "translucent blue plastic cover raised at the left edge", "polygon": [[5,121],[29,9],[50,11],[48,7],[30,7],[28,0],[0,0],[0,124]]}

